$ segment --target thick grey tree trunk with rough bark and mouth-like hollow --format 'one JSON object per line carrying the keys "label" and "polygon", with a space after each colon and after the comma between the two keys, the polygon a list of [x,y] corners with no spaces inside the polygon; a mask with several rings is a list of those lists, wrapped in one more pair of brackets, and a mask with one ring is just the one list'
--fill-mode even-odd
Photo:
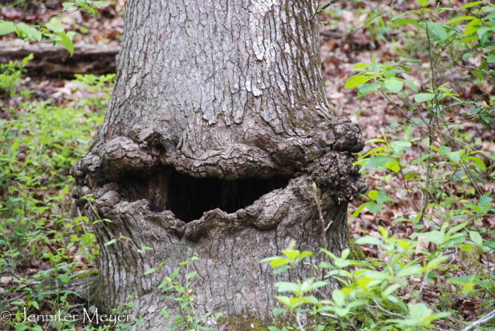
{"label": "thick grey tree trunk with rough bark and mouth-like hollow", "polygon": [[[321,78],[315,3],[310,0],[127,3],[108,113],[73,168],[74,196],[86,204],[100,245],[99,307],[129,301],[139,330],[167,330],[174,307],[157,289],[194,250],[199,313],[272,317],[273,275],[258,264],[291,239],[317,250],[347,246],[347,202],[367,189],[351,152],[357,125],[337,119]],[[108,231],[107,231],[108,230]],[[126,239],[123,239],[126,240]],[[314,262],[318,262],[315,257]],[[314,276],[314,271],[313,271]],[[169,310],[172,308],[169,308]]]}

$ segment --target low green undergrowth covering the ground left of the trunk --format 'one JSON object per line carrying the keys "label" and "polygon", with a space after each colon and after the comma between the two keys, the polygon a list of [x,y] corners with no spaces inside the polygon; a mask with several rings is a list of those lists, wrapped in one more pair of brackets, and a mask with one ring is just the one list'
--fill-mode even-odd
{"label": "low green undergrowth covering the ground left of the trunk", "polygon": [[[9,83],[0,91],[0,298],[15,299],[0,299],[0,310],[15,317],[0,321],[0,329],[9,324],[41,331],[47,325],[20,323],[24,309],[28,315],[60,307],[74,313],[82,307],[74,306],[68,282],[96,272],[98,247],[91,225],[72,204],[69,170],[102,124],[114,75],[65,83],[87,95],[82,99],[38,99],[23,85],[30,58],[0,70]],[[62,321],[51,327],[74,325]]]}

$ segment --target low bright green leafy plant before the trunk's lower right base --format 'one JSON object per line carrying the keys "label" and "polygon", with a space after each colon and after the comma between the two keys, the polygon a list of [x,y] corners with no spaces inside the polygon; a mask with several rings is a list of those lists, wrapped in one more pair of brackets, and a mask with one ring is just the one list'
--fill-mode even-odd
{"label": "low bright green leafy plant before the trunk's lower right base", "polygon": [[[325,273],[324,280],[309,278],[297,283],[275,283],[279,293],[289,292],[290,296],[276,296],[285,308],[275,308],[273,314],[278,316],[284,311],[295,311],[297,326],[301,331],[304,330],[300,321],[302,312],[311,314],[319,322],[315,322],[311,330],[338,328],[341,331],[345,328],[358,330],[356,322],[363,320],[365,312],[369,312],[368,315],[372,317],[368,318],[370,321],[366,321],[366,324],[373,323],[373,330],[422,330],[431,327],[433,321],[449,316],[450,313],[447,312],[434,312],[422,302],[413,301],[406,305],[395,294],[399,288],[409,284],[410,277],[426,277],[432,270],[440,268],[446,258],[440,255],[423,260],[422,265],[418,264],[419,258],[408,259],[416,244],[413,240],[389,238],[384,228],[380,228],[380,231],[382,240],[362,237],[356,242],[380,245],[390,254],[388,261],[379,264],[382,270],[365,261],[348,260],[348,248],[342,251],[340,257],[321,249],[320,253],[330,257],[331,263],[322,261],[319,266],[313,267],[329,270]],[[276,268],[276,273],[297,268],[312,253],[300,252],[294,246],[293,241],[282,251],[285,256],[269,257],[260,262],[270,262],[270,266]],[[334,284],[340,286],[335,288]]]}

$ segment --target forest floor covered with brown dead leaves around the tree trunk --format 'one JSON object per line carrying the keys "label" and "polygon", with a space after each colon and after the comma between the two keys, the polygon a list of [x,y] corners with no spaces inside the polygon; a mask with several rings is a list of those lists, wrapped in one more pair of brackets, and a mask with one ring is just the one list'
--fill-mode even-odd
{"label": "forest floor covered with brown dead leaves around the tree trunk", "polygon": [[[373,55],[376,56],[377,62],[382,63],[391,61],[397,62],[398,59],[406,59],[412,56],[421,63],[417,65],[417,69],[412,69],[408,74],[402,74],[402,78],[411,81],[420,90],[431,83],[431,77],[420,72],[421,68],[428,67],[427,64],[429,59],[427,51],[428,46],[425,41],[421,39],[419,34],[417,34],[417,29],[415,27],[411,28],[410,26],[391,28],[383,23],[383,20],[387,18],[390,19],[398,13],[417,9],[417,2],[404,0],[393,2],[390,6],[378,1],[370,1],[370,4],[364,4],[364,2],[360,1],[342,2],[343,4],[337,3],[336,6],[332,7],[333,14],[323,13],[318,15],[320,21],[327,22],[320,26],[320,31],[327,32],[327,35],[331,36],[325,37],[322,33],[322,36],[320,37],[322,74],[323,79],[326,82],[328,102],[337,116],[349,118],[352,122],[359,124],[366,141],[384,139],[384,137],[388,141],[392,141],[396,139],[397,136],[403,137],[402,128],[404,126],[403,123],[407,120],[408,108],[401,103],[400,100],[391,99],[389,101],[385,96],[378,93],[367,94],[361,98],[357,98],[357,89],[345,89],[344,86],[347,79],[356,74],[356,71],[353,70],[353,66],[357,63],[370,63]],[[461,6],[467,2],[468,1],[462,0],[448,1],[449,6]],[[50,3],[49,6],[51,7],[48,8],[50,10],[60,9],[60,3],[57,1],[40,3],[44,3],[43,5],[47,6]],[[373,11],[370,10],[370,6],[371,8],[374,8]],[[23,4],[2,6],[0,8],[0,18],[3,20],[23,21],[28,24],[34,24],[39,21],[50,22],[50,20],[61,20],[61,26],[71,31],[78,32],[78,35],[74,37],[75,46],[81,43],[104,47],[105,45],[119,45],[123,31],[124,8],[125,0],[117,0],[112,5],[97,10],[99,13],[97,17],[88,13],[76,11],[60,18],[61,16],[59,13],[49,12],[32,5]],[[380,17],[376,16],[376,12],[378,11],[377,8],[380,10]],[[1,37],[0,43],[6,39],[6,37]],[[476,61],[480,61],[481,63],[481,59],[479,58],[472,58],[470,61],[473,62],[474,65],[476,65]],[[445,82],[448,82],[449,80],[453,81],[455,78],[458,78],[459,74],[456,69],[457,68],[448,69],[450,71],[445,73]],[[88,73],[91,73],[91,69]],[[0,298],[2,298],[0,301],[5,299],[5,301],[10,302],[10,304],[24,302],[25,292],[20,288],[20,285],[18,285],[19,283],[22,283],[21,280],[31,280],[31,283],[27,281],[25,284],[35,286],[33,283],[35,275],[38,275],[36,277],[39,277],[40,271],[49,270],[54,267],[53,261],[50,261],[45,255],[45,257],[42,258],[39,254],[40,249],[32,247],[30,244],[35,242],[36,244],[42,245],[44,240],[50,241],[56,236],[51,233],[46,234],[44,237],[40,237],[41,235],[39,232],[37,233],[37,231],[42,231],[43,229],[58,231],[57,224],[62,218],[57,218],[53,216],[53,214],[60,212],[60,210],[66,209],[67,212],[72,213],[72,216],[75,215],[76,218],[78,217],[74,207],[71,209],[71,200],[69,195],[66,194],[66,183],[69,184],[69,189],[72,188],[70,182],[71,178],[68,176],[68,169],[73,164],[74,160],[88,147],[91,138],[94,137],[96,133],[98,125],[101,124],[106,102],[108,101],[108,95],[111,93],[113,84],[112,79],[111,76],[107,76],[104,79],[97,79],[96,77],[84,78],[81,76],[76,80],[73,80],[63,79],[57,77],[57,75],[32,77],[24,75],[22,76],[22,79],[18,80],[19,84],[15,89],[15,93],[11,96],[7,96],[6,94],[2,95],[0,101],[0,128],[3,130],[5,140],[1,142],[0,158],[14,158],[15,162],[24,164],[26,159],[32,158],[30,155],[35,154],[36,150],[38,150],[40,154],[42,153],[41,150],[43,150],[51,159],[58,157],[57,161],[48,161],[46,158],[40,156],[38,161],[46,163],[46,165],[43,166],[42,164],[40,167],[44,169],[43,172],[44,176],[47,177],[47,182],[43,183],[42,186],[28,187],[28,189],[31,189],[31,193],[28,194],[31,198],[36,199],[36,201],[40,203],[45,201],[45,205],[47,205],[47,201],[49,201],[48,206],[58,203],[58,206],[53,207],[52,209],[48,208],[48,210],[42,210],[41,215],[43,215],[43,220],[41,227],[33,226],[32,229],[30,228],[31,230],[29,233],[26,232],[22,235],[16,235],[19,247],[22,247],[24,250],[17,250],[17,253],[15,253],[15,251],[9,248],[10,250],[8,250],[8,252],[10,252],[9,254],[11,255],[7,254],[6,249],[4,252],[0,253],[0,265],[1,268],[3,268],[0,269]],[[460,95],[459,97],[463,99],[484,96],[484,100],[486,100],[487,104],[493,105],[495,94],[493,92],[492,83],[493,81],[487,80],[468,80],[465,83],[460,84],[456,92]],[[33,93],[28,97],[27,94],[20,92],[22,90],[33,91]],[[36,125],[37,123],[44,123],[40,119],[29,118],[29,116],[26,115],[33,112],[31,104],[33,100],[43,103],[46,107],[50,107],[47,109],[52,112],[51,115],[49,112],[46,112],[43,115],[44,119],[48,116],[53,116],[47,120],[46,125],[50,125],[50,123],[53,123],[53,121],[56,120],[65,120],[69,116],[74,117],[70,121],[67,120],[67,123],[65,124],[57,124],[61,131],[70,127],[67,136],[60,134],[56,139],[39,143],[35,141],[36,137],[30,136],[40,134],[41,131],[37,131],[39,128],[37,128]],[[61,111],[61,109],[71,110]],[[401,109],[402,112],[398,109]],[[23,118],[23,116],[27,117]],[[452,116],[456,117],[455,114]],[[19,125],[23,125],[23,127],[19,127]],[[16,130],[19,130],[18,132],[24,137],[25,141],[22,139],[19,140],[18,136],[14,135],[17,138],[12,136],[14,127]],[[456,127],[455,132],[458,137],[463,137],[466,141],[472,142],[479,150],[486,151],[491,155],[495,154],[495,130],[493,127],[487,129],[480,123],[466,121]],[[71,137],[71,135],[78,134],[82,135],[80,139],[74,136]],[[413,131],[411,135],[412,137],[421,137],[419,130]],[[9,137],[10,140],[7,139],[7,137]],[[73,144],[65,145],[64,143],[70,139],[74,140]],[[26,140],[30,142],[28,143]],[[62,141],[64,143],[62,143]],[[30,143],[32,143],[31,147],[29,146]],[[16,145],[14,146],[14,144]],[[54,148],[53,146],[50,146],[50,144],[61,144],[63,145],[63,148],[57,149],[58,147]],[[364,155],[373,148],[380,146],[380,142],[369,142],[360,155]],[[17,148],[19,148],[18,151],[16,151]],[[401,156],[401,160],[410,163],[411,160],[419,158],[424,153],[424,145],[421,141],[417,141],[405,149]],[[488,170],[483,175],[485,183],[482,186],[482,189],[485,194],[493,196],[493,192],[495,192],[494,165],[489,158],[483,158],[483,162],[487,165]],[[36,168],[35,163],[31,163],[31,166]],[[9,167],[10,170],[7,169]],[[22,203],[12,202],[13,199],[18,198],[18,196],[16,197],[16,193],[9,188],[15,186],[15,191],[20,192],[22,191],[22,187],[19,186],[18,178],[10,180],[7,180],[7,178],[9,174],[12,174],[15,171],[20,173],[20,169],[25,168],[20,167],[18,164],[10,164],[9,167],[5,167],[5,169],[2,170],[2,177],[0,177],[0,211],[2,212],[0,219],[3,222],[2,231],[4,231],[4,234],[14,236],[15,232],[19,232],[20,230],[18,227],[12,226],[14,223],[13,220],[21,216],[32,218],[33,210],[31,210],[31,214],[28,215],[26,214],[26,208],[29,206],[23,205],[20,207]],[[46,173],[46,169],[48,168],[50,170],[49,175]],[[441,172],[442,168],[439,168],[433,176],[441,176]],[[26,176],[29,177],[32,176],[32,174],[26,173]],[[49,179],[54,180],[53,182],[50,182]],[[383,170],[368,171],[365,173],[365,179],[366,182],[370,184],[370,190],[375,189],[387,193],[390,198],[390,203],[388,203],[386,208],[383,208],[379,212],[370,212],[367,209],[363,209],[355,217],[352,217],[351,215],[356,211],[360,204],[367,200],[363,197],[358,201],[350,203],[348,220],[352,235],[354,237],[368,235],[381,239],[382,233],[379,230],[380,226],[385,228],[390,236],[396,236],[397,238],[408,238],[412,233],[417,232],[417,228],[413,223],[396,220],[401,217],[414,217],[414,215],[419,213],[416,206],[421,205],[424,197],[420,189],[421,183],[418,183],[416,189],[413,188],[410,190],[412,194],[409,194],[409,196],[403,189],[403,184],[399,180],[387,177],[387,173]],[[446,189],[446,195],[448,196],[466,197],[466,189],[462,185],[446,185],[444,189]],[[34,193],[32,193],[33,190],[35,191]],[[468,199],[477,197],[479,196],[476,196],[476,194],[467,195]],[[57,202],[57,199],[62,202]],[[36,201],[34,203],[35,205],[37,203]],[[39,208],[39,206],[37,208]],[[36,222],[39,221],[40,219],[36,220]],[[33,221],[31,220],[30,222]],[[435,226],[432,222],[427,221],[425,221],[423,225],[426,227],[425,229],[433,229]],[[81,221],[78,218],[78,221],[74,222],[72,227],[67,226],[67,231],[70,232],[70,235],[75,235],[80,234],[81,232],[86,233],[86,231],[91,232],[89,228],[88,225],[81,225]],[[470,229],[482,234],[485,240],[495,241],[494,218],[483,217],[479,221],[470,224]],[[5,241],[1,241],[1,239],[2,237],[0,236],[0,247],[6,247]],[[5,240],[5,238],[3,238],[3,240]],[[29,242],[29,244],[24,244],[25,242]],[[88,244],[86,247],[82,247],[82,245],[74,245],[72,247],[72,249],[69,247],[67,252],[63,254],[69,256],[66,259],[67,262],[75,263],[75,265],[70,268],[79,271],[84,270],[86,272],[95,268],[96,260],[91,260],[90,258],[97,249],[95,246]],[[56,249],[57,246],[54,246],[53,248]],[[431,247],[426,245],[422,248],[430,251],[435,249],[433,244]],[[385,252],[380,246],[364,245],[362,249],[368,258],[386,258]],[[480,261],[486,263],[488,268],[493,271],[494,254],[493,252],[490,254],[480,257]],[[15,268],[6,268],[5,264],[8,264],[7,261],[11,261],[12,259],[16,260],[13,264],[15,265]],[[455,258],[451,261],[451,264],[456,266],[462,265],[463,263],[463,261],[456,261]],[[12,265],[12,263],[10,264]],[[462,276],[465,274],[466,270],[461,266],[458,268],[458,271],[450,272],[449,277],[455,275]],[[18,281],[17,283],[16,280]],[[437,282],[439,284],[444,284],[445,279],[442,279],[442,276],[439,276]],[[405,296],[410,296],[412,292],[421,288],[423,291],[422,300],[431,305],[438,304],[441,299],[439,299],[437,285],[428,285],[425,288],[423,288],[423,285],[421,280],[418,280],[416,284],[414,284],[413,281],[411,286],[405,290],[403,294]],[[455,286],[452,290],[457,291]],[[41,306],[43,300],[38,301],[39,302],[37,302],[36,305]],[[484,302],[485,301],[480,297],[459,293],[459,295],[456,296],[456,300],[452,301],[450,308],[455,309],[455,311],[458,312],[458,318],[461,318],[464,321],[472,321],[484,312],[484,308],[482,307]],[[0,308],[4,307],[5,305],[1,303]],[[76,329],[80,330],[80,326]]]}

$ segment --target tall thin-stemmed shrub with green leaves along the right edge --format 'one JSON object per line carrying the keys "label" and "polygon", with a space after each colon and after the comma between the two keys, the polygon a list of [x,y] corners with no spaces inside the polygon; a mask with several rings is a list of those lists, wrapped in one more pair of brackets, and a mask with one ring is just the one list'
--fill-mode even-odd
{"label": "tall thin-stemmed shrub with green leaves along the right edge", "polygon": [[[476,1],[454,9],[435,7],[435,1],[417,2],[418,10],[400,13],[390,24],[395,27],[410,24],[419,30],[418,38],[427,46],[428,61],[421,66],[414,58],[378,63],[373,56],[371,63],[355,65],[354,70],[360,72],[346,83],[346,88],[357,87],[358,98],[370,93],[382,95],[397,110],[397,117],[403,119],[400,124],[395,119],[391,121],[392,130],[384,131],[383,139],[368,141],[373,147],[355,163],[361,165],[365,176],[371,171],[382,174],[384,186],[363,195],[365,202],[352,216],[366,210],[378,215],[391,209],[397,203],[396,194],[386,190],[385,185],[393,181],[399,186],[396,191],[407,197],[415,210],[394,220],[413,225],[409,237],[416,240],[416,248],[403,258],[409,261],[445,258],[436,272],[422,276],[443,300],[437,307],[453,310],[458,293],[449,287],[454,284],[461,288],[462,294],[482,300],[484,309],[493,309],[494,274],[482,259],[487,263],[493,259],[495,245],[489,231],[480,230],[479,225],[483,220],[493,220],[495,215],[493,191],[484,188],[486,182],[493,181],[494,153],[481,150],[477,147],[481,140],[473,142],[470,135],[462,134],[462,129],[467,123],[476,122],[487,130],[492,129],[495,104],[492,97],[484,94],[467,98],[462,95],[461,87],[470,84],[469,77],[480,82],[494,78],[495,5]],[[456,13],[460,16],[452,17]],[[447,23],[440,23],[442,20]],[[479,66],[468,61],[475,56],[482,59]],[[403,75],[426,78],[431,84],[419,91]],[[446,79],[450,76],[455,80]],[[481,83],[475,81],[475,84]],[[406,157],[406,151],[413,146],[422,153],[411,160]],[[383,231],[381,234],[384,239],[386,234]],[[377,245],[379,241],[366,240],[356,242]],[[420,294],[421,290],[411,297],[419,298]],[[429,308],[425,306],[414,314],[424,314],[424,309]],[[397,327],[407,329],[411,325],[401,323]]]}

